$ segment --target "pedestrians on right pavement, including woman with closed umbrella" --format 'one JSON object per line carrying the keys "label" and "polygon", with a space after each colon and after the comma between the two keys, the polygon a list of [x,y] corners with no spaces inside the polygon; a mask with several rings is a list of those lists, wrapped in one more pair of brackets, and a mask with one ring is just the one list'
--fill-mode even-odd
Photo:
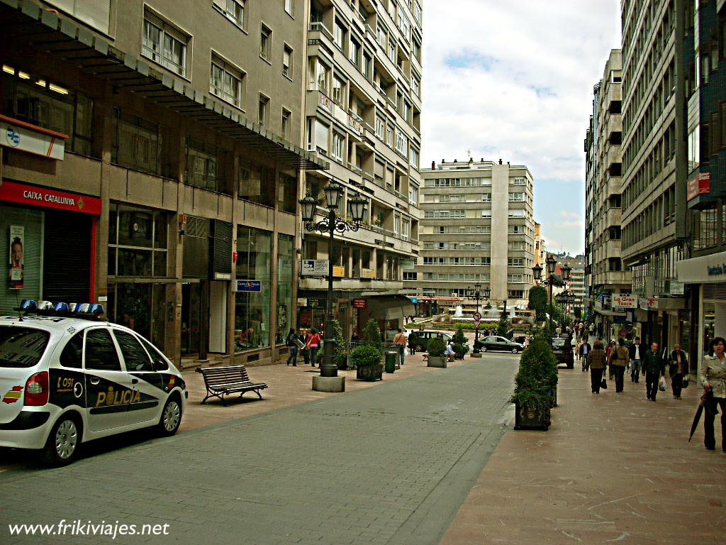
{"label": "pedestrians on right pavement, including woman with closed umbrella", "polygon": [[[583,371],[590,368],[590,386],[593,394],[599,394],[603,387],[605,369],[610,366],[615,379],[615,391],[623,391],[623,381],[626,369],[629,366],[630,380],[637,384],[640,373],[645,375],[645,395],[648,400],[655,401],[658,394],[659,382],[665,376],[666,368],[671,379],[671,388],[674,399],[680,400],[682,389],[688,386],[690,363],[688,355],[681,349],[680,344],[674,344],[671,352],[659,350],[658,343],[653,342],[649,348],[641,344],[640,337],[627,347],[624,339],[608,343],[603,346],[600,339],[596,339],[589,350],[589,343],[584,340],[581,348],[584,352]],[[726,340],[717,336],[709,343],[709,353],[703,356],[701,367],[698,370],[698,379],[703,384],[704,405],[703,443],[709,450],[716,447],[714,422],[716,415],[721,412],[721,447],[726,452],[726,356],[724,354]],[[580,352],[580,356],[582,356]],[[628,365],[629,364],[629,365]]]}

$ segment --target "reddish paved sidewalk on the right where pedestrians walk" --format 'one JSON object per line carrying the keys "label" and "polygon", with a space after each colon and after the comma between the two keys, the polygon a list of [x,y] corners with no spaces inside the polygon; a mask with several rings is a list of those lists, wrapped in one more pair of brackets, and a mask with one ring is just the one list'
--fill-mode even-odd
{"label": "reddish paved sidewalk on the right where pedestrians walk", "polygon": [[599,395],[579,369],[559,376],[549,431],[505,433],[441,545],[725,543],[726,453],[702,422],[688,443],[703,389],[652,403],[629,376]]}

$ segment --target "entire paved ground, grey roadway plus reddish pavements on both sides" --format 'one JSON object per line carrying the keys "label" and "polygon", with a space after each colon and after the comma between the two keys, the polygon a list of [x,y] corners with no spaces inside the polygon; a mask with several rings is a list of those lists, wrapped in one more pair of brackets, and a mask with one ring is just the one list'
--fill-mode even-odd
{"label": "entire paved ground, grey roadway plus reddish pavements on both sides", "polygon": [[[250,367],[270,384],[265,399],[227,408],[199,405],[189,371],[175,437],[94,445],[60,469],[8,456],[0,543],[724,541],[726,453],[703,448],[702,427],[688,443],[695,384],[652,403],[642,381],[593,395],[586,373],[560,369],[549,431],[515,431],[517,362],[486,354],[438,369],[415,355],[383,382],[343,372],[343,394],[311,391],[309,367]],[[69,535],[78,522],[50,537],[8,530],[60,520],[86,531],[167,525],[168,535]]]}

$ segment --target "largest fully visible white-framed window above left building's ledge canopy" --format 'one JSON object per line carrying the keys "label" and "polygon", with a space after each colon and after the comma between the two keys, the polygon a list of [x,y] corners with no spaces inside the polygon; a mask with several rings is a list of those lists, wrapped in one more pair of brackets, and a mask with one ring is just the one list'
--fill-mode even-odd
{"label": "largest fully visible white-framed window above left building's ledge canopy", "polygon": [[189,36],[149,10],[144,11],[142,55],[179,76],[187,75]]}

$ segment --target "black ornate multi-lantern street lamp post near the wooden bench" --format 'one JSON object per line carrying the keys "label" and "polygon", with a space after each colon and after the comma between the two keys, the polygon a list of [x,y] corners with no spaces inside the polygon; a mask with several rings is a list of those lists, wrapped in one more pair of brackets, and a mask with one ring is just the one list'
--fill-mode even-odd
{"label": "black ornate multi-lantern street lamp post near the wooden bench", "polygon": [[[333,237],[335,231],[345,233],[346,231],[357,231],[360,222],[363,221],[368,201],[360,193],[356,192],[353,198],[348,200],[351,209],[353,222],[346,222],[345,219],[336,214],[338,205],[343,198],[343,186],[338,182],[330,182],[323,187],[327,201],[327,217],[317,223],[313,222],[317,210],[317,199],[306,195],[298,201],[301,204],[303,223],[306,230],[318,231],[328,235],[328,267],[327,267],[327,308],[325,313],[325,343],[323,345],[323,358],[320,365],[320,376],[338,376],[338,366],[335,365],[335,334],[333,332]],[[314,363],[314,362],[313,362]]]}

